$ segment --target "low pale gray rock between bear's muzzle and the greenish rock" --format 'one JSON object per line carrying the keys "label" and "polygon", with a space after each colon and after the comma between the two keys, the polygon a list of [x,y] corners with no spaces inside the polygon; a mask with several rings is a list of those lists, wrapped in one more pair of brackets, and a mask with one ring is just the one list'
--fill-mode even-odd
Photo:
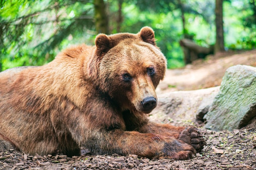
{"label": "low pale gray rock between bear's muzzle and the greenish rock", "polygon": [[220,86],[195,91],[158,94],[157,108],[152,111],[149,119],[159,123],[170,123],[174,126],[193,125],[196,122],[198,107],[210,105],[219,89]]}

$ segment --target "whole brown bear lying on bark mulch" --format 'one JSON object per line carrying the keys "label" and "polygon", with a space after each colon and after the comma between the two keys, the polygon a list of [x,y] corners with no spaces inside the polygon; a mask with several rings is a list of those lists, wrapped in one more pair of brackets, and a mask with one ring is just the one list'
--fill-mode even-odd
{"label": "whole brown bear lying on bark mulch", "polygon": [[44,66],[0,73],[0,150],[29,154],[81,146],[92,154],[190,159],[204,146],[194,127],[149,122],[166,59],[150,27],[99,34]]}

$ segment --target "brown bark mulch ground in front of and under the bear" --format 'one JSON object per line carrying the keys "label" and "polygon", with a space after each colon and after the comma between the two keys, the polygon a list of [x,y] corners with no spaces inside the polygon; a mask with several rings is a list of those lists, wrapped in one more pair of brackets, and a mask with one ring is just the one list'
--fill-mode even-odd
{"label": "brown bark mulch ground in front of and under the bear", "polygon": [[193,159],[148,159],[137,155],[28,155],[0,151],[0,170],[256,170],[256,119],[240,130],[200,128],[207,145]]}

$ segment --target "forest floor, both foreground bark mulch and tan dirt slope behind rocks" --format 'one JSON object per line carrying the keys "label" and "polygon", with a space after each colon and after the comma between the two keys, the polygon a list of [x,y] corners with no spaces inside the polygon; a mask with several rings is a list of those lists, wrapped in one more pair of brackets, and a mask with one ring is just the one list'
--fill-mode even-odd
{"label": "forest floor, both foreground bark mulch and tan dirt slope behind rocks", "polygon": [[[157,93],[219,86],[225,70],[236,64],[256,66],[256,50],[229,52],[198,60],[185,68],[168,70]],[[0,151],[0,170],[256,170],[256,118],[239,130],[200,128],[204,149],[191,160],[148,159],[137,155],[29,155]]]}

